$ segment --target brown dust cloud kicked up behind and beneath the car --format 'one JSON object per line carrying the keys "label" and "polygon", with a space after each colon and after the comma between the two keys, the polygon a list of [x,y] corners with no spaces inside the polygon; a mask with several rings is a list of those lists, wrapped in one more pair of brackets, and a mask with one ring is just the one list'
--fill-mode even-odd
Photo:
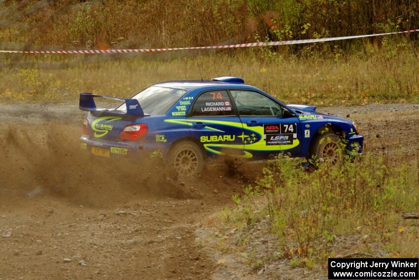
{"label": "brown dust cloud kicked up behind and beneath the car", "polygon": [[81,126],[50,120],[2,127],[0,193],[104,207],[150,197],[197,198],[253,178],[243,172],[245,162],[230,158],[212,161],[197,177],[179,178],[160,158],[95,157],[80,148],[80,133]]}

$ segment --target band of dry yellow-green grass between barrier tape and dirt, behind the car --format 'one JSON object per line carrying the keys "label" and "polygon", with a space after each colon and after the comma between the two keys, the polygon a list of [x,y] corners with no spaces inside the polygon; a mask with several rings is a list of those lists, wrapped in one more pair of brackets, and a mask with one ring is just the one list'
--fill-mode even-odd
{"label": "band of dry yellow-green grass between barrier tape and dirt, behind the car", "polygon": [[[419,102],[419,60],[408,45],[366,46],[364,53],[307,58],[269,49],[97,56],[3,56],[0,101],[77,102],[80,92],[128,97],[163,80],[238,76],[286,103],[355,105]],[[186,57],[179,57],[185,55]],[[0,57],[1,58],[1,57]],[[93,58],[93,59],[92,59]],[[125,58],[125,59],[123,59]],[[99,61],[92,61],[99,60]],[[32,63],[31,67],[19,67]],[[69,66],[70,65],[70,66]],[[201,74],[200,74],[201,73]]]}

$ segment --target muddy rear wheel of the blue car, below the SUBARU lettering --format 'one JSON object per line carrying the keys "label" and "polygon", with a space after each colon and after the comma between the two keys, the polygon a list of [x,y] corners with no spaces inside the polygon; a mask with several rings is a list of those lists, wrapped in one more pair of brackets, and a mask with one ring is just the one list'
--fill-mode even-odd
{"label": "muddy rear wheel of the blue car, below the SUBARU lettering", "polygon": [[194,176],[204,167],[205,155],[198,144],[182,141],[171,148],[168,160],[179,175]]}

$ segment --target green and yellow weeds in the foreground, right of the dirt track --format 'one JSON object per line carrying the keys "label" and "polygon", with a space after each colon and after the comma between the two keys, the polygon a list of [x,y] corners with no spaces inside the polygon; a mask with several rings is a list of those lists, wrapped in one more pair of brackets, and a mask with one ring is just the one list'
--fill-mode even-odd
{"label": "green and yellow weeds in the foreground, right of the dirt track", "polygon": [[311,171],[300,164],[283,155],[269,162],[261,179],[233,196],[237,207],[223,210],[220,227],[234,225],[245,235],[269,217],[265,230],[278,240],[272,246],[293,258],[291,266],[324,267],[328,257],[348,253],[339,247],[342,241],[335,242],[339,237],[359,241],[346,244],[352,252],[419,257],[417,223],[401,217],[419,209],[417,160],[406,161],[395,151],[335,166],[321,163]]}

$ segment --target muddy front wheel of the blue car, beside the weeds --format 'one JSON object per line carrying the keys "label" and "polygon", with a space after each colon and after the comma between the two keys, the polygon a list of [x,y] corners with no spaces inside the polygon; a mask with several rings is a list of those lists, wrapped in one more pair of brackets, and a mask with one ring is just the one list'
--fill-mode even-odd
{"label": "muddy front wheel of the blue car, beside the weeds", "polygon": [[312,142],[309,151],[309,159],[318,159],[336,164],[340,159],[339,148],[341,139],[333,132],[317,134]]}

